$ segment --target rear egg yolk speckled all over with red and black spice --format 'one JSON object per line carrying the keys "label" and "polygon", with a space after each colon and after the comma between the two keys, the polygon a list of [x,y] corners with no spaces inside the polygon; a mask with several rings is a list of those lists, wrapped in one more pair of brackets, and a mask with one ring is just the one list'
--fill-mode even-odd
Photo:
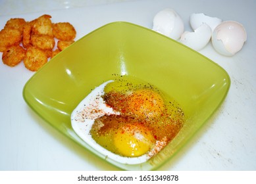
{"label": "rear egg yolk speckled all over with red and black spice", "polygon": [[162,114],[165,103],[157,91],[138,89],[130,95],[127,108],[139,118],[155,118]]}

